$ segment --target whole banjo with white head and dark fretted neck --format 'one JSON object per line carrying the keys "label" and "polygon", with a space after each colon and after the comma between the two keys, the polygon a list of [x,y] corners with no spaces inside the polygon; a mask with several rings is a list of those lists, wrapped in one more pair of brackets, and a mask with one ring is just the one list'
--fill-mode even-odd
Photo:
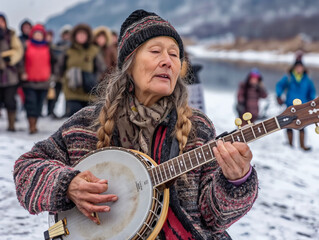
{"label": "whole banjo with white head and dark fretted neck", "polygon": [[[247,125],[218,137],[226,142],[249,143],[284,128],[302,129],[312,123],[319,134],[319,98],[305,104],[299,99],[282,114],[250,123],[251,114],[245,113]],[[111,211],[96,216],[100,225],[85,217],[76,207],[49,214],[50,228],[44,239],[67,240],[141,240],[155,239],[165,223],[169,207],[169,190],[164,183],[208,162],[215,161],[213,147],[216,140],[157,165],[144,153],[120,147],[106,147],[90,152],[79,160],[77,170],[91,171],[96,177],[108,179],[110,194],[119,198],[109,202]]]}

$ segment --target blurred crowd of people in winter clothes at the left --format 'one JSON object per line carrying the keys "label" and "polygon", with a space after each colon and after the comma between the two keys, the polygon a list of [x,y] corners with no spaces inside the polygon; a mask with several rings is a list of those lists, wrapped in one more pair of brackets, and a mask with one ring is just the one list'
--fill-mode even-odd
{"label": "blurred crowd of people in winter clothes at the left", "polygon": [[[55,43],[55,33],[42,24],[24,20],[20,30],[18,37],[0,13],[0,113],[7,111],[7,130],[16,131],[21,102],[34,134],[43,106],[54,119],[69,117],[94,100],[94,87],[117,65],[117,33],[107,26],[65,25]],[[57,116],[61,92],[65,114]]]}

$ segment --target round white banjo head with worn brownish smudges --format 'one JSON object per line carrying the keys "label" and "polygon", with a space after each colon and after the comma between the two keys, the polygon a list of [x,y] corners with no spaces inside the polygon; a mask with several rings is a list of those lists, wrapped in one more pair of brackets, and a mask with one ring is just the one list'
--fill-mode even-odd
{"label": "round white banjo head with worn brownish smudges", "polygon": [[58,220],[67,219],[66,227],[70,233],[63,239],[134,238],[154,205],[151,178],[137,154],[122,148],[101,149],[88,154],[75,169],[89,170],[96,177],[107,179],[109,186],[106,193],[116,194],[118,200],[103,204],[110,206],[111,211],[98,213],[100,225],[85,217],[76,207],[58,213]]}

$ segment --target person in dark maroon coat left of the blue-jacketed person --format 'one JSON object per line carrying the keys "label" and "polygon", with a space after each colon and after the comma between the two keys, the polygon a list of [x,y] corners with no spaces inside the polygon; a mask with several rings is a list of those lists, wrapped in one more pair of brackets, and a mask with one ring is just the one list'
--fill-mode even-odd
{"label": "person in dark maroon coat left of the blue-jacketed person", "polygon": [[250,112],[252,114],[251,122],[256,121],[259,114],[258,100],[266,97],[267,91],[262,82],[262,75],[257,68],[253,68],[246,81],[239,85],[237,92],[238,116],[242,117],[245,112]]}

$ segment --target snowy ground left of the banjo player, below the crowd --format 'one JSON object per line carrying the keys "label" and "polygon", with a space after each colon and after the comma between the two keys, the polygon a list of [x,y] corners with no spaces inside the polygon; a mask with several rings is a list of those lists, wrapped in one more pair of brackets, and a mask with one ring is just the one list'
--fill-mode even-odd
{"label": "snowy ground left of the banjo player, below the crowd", "polygon": [[[63,98],[60,98],[58,113],[62,115]],[[45,111],[44,111],[45,112]],[[30,215],[22,208],[15,195],[13,182],[13,166],[15,160],[29,151],[34,143],[47,138],[64,120],[39,119],[39,134],[29,135],[24,113],[19,114],[16,124],[17,131],[6,131],[5,111],[0,118],[0,239],[1,240],[31,240],[43,239],[48,221],[47,214]]]}

